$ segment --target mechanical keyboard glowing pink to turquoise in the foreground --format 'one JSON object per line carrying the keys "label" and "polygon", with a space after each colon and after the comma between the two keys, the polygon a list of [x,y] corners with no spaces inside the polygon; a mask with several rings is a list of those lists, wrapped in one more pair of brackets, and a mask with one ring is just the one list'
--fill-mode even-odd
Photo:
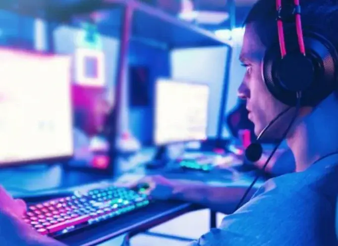
{"label": "mechanical keyboard glowing pink to turquoise in the foreground", "polygon": [[150,202],[151,197],[145,194],[111,186],[32,204],[23,219],[40,234],[56,237],[113,219]]}

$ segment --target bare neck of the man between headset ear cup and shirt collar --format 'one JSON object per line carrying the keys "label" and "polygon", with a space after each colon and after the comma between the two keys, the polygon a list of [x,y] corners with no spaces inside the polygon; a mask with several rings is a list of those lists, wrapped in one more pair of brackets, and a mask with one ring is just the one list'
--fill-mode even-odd
{"label": "bare neck of the man between headset ear cup and shirt collar", "polygon": [[[302,117],[287,137],[297,172],[306,170],[320,158],[338,153],[337,108],[337,99],[332,95],[312,113]],[[335,158],[338,161],[337,155]]]}

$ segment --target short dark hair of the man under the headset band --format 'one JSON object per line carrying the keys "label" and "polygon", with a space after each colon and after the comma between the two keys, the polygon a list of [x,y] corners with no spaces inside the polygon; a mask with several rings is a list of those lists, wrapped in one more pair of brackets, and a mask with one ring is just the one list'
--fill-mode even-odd
{"label": "short dark hair of the man under the headset band", "polygon": [[[283,4],[293,0],[282,0]],[[302,25],[328,39],[338,49],[338,0],[300,0]],[[258,0],[244,25],[253,24],[265,46],[277,42],[276,0]]]}

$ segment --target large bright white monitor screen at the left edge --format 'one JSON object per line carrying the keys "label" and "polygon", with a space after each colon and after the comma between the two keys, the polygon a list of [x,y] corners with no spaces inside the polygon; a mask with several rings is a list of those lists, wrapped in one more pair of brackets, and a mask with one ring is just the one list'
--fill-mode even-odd
{"label": "large bright white monitor screen at the left edge", "polygon": [[0,164],[73,154],[70,63],[0,49]]}

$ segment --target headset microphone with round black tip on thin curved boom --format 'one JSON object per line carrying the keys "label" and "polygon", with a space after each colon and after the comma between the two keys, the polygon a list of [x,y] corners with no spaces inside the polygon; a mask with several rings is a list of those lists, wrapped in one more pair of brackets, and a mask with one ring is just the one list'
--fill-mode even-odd
{"label": "headset microphone with round black tip on thin curved boom", "polygon": [[284,109],[280,114],[278,114],[270,123],[261,131],[261,133],[258,135],[256,141],[248,146],[248,148],[245,149],[245,157],[251,161],[256,162],[258,161],[263,154],[263,148],[262,145],[259,143],[260,139],[264,135],[264,133],[269,130],[269,128],[279,119],[281,118],[285,113],[287,113],[292,107],[287,107]]}

